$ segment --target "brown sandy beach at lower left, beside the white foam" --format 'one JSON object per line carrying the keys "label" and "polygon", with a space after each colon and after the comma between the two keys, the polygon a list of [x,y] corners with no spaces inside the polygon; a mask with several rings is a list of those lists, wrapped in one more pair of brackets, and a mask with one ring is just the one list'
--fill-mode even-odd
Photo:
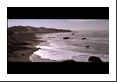
{"label": "brown sandy beach at lower left, beside the white foam", "polygon": [[35,45],[39,44],[41,41],[30,41],[30,45],[23,45],[23,47],[27,47],[29,49],[19,50],[13,52],[15,57],[8,57],[9,62],[31,62],[29,57],[33,54],[34,51],[38,50],[38,48],[34,47]]}

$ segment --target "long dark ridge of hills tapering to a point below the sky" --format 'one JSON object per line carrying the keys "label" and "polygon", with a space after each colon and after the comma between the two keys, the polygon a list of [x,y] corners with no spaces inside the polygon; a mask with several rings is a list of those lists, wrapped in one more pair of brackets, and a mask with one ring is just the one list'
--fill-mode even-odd
{"label": "long dark ridge of hills tapering to a point below the sky", "polygon": [[32,26],[12,26],[8,28],[8,32],[27,32],[27,33],[56,33],[56,32],[71,32],[71,30],[46,28],[46,27],[32,27]]}

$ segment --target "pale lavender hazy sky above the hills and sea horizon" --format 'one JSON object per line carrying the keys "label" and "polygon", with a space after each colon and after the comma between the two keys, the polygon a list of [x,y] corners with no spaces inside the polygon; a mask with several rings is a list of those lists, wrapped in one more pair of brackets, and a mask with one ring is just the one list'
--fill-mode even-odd
{"label": "pale lavender hazy sky above the hills and sea horizon", "polygon": [[8,19],[10,26],[34,26],[69,30],[108,30],[105,19]]}

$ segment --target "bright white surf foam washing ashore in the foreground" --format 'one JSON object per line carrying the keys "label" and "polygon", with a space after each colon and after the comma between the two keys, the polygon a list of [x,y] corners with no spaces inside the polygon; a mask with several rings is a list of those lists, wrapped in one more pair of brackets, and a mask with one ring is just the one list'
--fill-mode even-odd
{"label": "bright white surf foam washing ashore in the foreground", "polygon": [[106,54],[81,53],[78,51],[58,49],[52,46],[37,46],[37,47],[41,47],[42,49],[34,52],[34,54],[37,54],[44,59],[59,60],[59,61],[73,59],[75,61],[88,62],[88,58],[90,56],[97,56],[100,57],[103,61],[108,61],[108,55]]}

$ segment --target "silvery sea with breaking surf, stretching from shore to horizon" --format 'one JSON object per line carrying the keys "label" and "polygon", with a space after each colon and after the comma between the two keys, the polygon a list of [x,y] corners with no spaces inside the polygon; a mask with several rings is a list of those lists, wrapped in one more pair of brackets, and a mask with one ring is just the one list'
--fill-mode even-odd
{"label": "silvery sea with breaking surf, stretching from shore to horizon", "polygon": [[[35,46],[41,49],[32,54],[32,62],[39,62],[38,57],[33,55],[58,62],[63,60],[89,62],[90,56],[97,56],[103,62],[109,62],[109,31],[85,30],[36,34],[36,36],[45,42]],[[63,39],[64,37],[68,39]]]}

